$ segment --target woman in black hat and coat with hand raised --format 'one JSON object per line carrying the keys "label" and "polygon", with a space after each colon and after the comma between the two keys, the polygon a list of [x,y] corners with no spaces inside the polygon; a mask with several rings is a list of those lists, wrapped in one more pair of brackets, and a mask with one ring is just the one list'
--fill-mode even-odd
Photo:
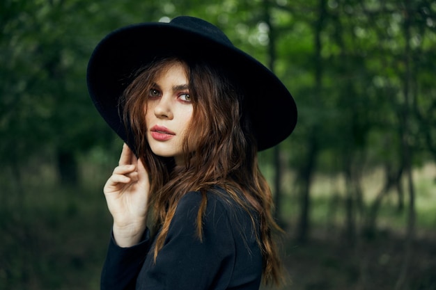
{"label": "woman in black hat and coat with hand raised", "polygon": [[109,34],[87,78],[125,141],[104,186],[114,225],[102,289],[278,283],[279,228],[257,152],[295,127],[281,81],[217,27],[185,16]]}

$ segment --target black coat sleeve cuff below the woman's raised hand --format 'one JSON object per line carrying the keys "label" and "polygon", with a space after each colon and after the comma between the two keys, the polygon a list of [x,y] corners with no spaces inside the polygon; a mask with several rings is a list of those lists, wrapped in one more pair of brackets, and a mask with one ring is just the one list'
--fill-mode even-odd
{"label": "black coat sleeve cuff below the woman's raised hand", "polygon": [[150,249],[148,229],[143,234],[141,243],[130,248],[120,248],[111,234],[106,260],[102,269],[100,289],[102,290],[134,290],[136,278],[143,261]]}

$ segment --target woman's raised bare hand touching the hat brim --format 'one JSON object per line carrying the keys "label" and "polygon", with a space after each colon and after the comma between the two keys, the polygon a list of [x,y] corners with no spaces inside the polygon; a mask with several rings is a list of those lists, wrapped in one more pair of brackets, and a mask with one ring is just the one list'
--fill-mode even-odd
{"label": "woman's raised bare hand touching the hat brim", "polygon": [[139,242],[146,228],[150,194],[148,172],[124,144],[118,166],[104,185],[107,207],[114,218],[114,238],[120,247]]}

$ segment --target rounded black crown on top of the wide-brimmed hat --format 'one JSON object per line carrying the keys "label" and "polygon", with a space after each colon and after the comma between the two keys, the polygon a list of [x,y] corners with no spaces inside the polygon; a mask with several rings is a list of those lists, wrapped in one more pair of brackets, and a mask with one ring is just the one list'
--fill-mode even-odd
{"label": "rounded black crown on top of the wide-brimmed hat", "polygon": [[227,38],[221,29],[203,19],[191,16],[179,16],[172,19],[169,24],[184,30],[205,35],[205,37],[212,38],[216,42],[220,42],[222,45],[234,47],[233,43]]}

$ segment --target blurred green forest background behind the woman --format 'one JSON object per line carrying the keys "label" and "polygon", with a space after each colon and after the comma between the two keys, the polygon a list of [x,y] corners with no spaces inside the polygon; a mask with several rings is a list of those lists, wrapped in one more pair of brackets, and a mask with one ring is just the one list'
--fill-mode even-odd
{"label": "blurred green forest background behind the woman", "polygon": [[297,129],[260,154],[285,289],[436,289],[431,0],[0,1],[0,289],[99,289],[122,143],[86,65],[110,31],[176,15],[217,24],[296,99]]}

